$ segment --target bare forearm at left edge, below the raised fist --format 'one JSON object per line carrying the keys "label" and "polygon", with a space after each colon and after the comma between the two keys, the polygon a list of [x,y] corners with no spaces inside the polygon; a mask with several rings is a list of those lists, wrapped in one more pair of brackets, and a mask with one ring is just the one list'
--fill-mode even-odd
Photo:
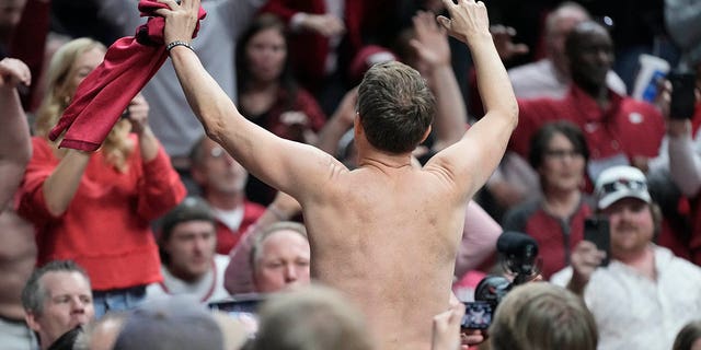
{"label": "bare forearm at left edge, below the raised fist", "polygon": [[0,208],[4,208],[22,180],[24,167],[32,156],[32,141],[26,116],[15,89],[0,88]]}

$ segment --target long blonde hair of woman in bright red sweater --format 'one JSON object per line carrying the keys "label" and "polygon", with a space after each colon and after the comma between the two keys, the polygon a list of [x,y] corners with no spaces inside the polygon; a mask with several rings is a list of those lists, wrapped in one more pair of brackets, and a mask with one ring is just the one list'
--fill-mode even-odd
{"label": "long blonde hair of woman in bright red sweater", "polygon": [[[34,128],[37,136],[48,138],[49,131],[56,126],[76,93],[76,86],[70,84],[76,60],[95,48],[106,50],[100,42],[83,37],[70,40],[54,54],[47,71],[46,95],[36,113]],[[107,163],[123,173],[127,171],[127,159],[134,151],[134,142],[128,137],[129,130],[128,120],[117,121],[102,147]],[[50,143],[57,148],[58,141]],[[64,152],[57,150],[56,154],[62,156]]]}

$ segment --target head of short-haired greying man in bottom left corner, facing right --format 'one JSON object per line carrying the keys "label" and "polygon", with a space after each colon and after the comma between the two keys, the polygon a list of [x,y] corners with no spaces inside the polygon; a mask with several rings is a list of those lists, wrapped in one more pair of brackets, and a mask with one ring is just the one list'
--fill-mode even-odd
{"label": "head of short-haired greying man in bottom left corner, facing right", "polygon": [[94,317],[88,273],[70,260],[51,261],[35,270],[22,291],[22,304],[42,350],[72,342],[79,327]]}

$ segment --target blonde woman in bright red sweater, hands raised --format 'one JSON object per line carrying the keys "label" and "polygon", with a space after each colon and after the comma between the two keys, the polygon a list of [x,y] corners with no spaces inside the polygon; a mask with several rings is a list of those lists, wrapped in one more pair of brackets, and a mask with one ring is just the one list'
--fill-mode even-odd
{"label": "blonde woman in bright red sweater, hands raised", "polygon": [[47,139],[105,47],[74,39],[51,59],[37,112],[33,155],[20,213],[36,229],[37,265],[72,259],[90,275],[95,314],[131,307],[161,280],[151,220],[175,207],[185,188],[148,126],[148,104],[136,96],[94,153],[58,149]]}

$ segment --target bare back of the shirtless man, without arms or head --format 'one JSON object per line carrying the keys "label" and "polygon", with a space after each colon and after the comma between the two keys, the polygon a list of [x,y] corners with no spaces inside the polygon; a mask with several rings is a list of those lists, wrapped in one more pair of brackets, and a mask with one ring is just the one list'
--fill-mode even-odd
{"label": "bare back of the shirtless man, without arms or head", "polygon": [[439,175],[365,166],[341,173],[304,209],[312,277],[368,316],[379,349],[426,349],[448,307],[464,206]]}

